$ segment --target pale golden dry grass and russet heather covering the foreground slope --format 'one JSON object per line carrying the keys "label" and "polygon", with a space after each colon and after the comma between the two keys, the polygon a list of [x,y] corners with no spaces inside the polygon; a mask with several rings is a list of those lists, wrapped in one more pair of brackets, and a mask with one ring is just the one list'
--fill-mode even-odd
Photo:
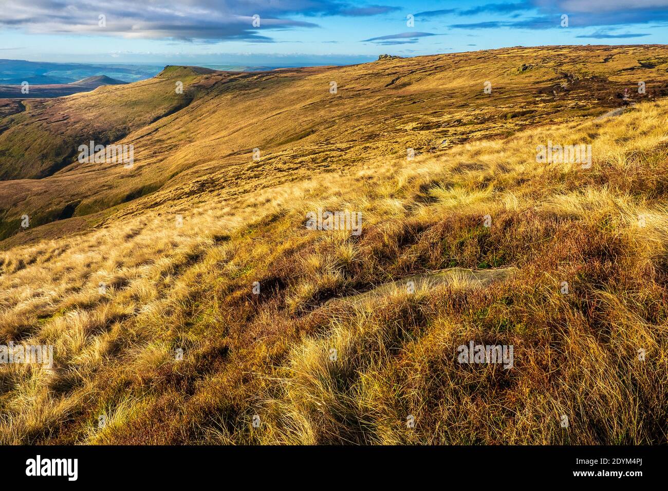
{"label": "pale golden dry grass and russet heather covering the foreground slope", "polygon": [[[0,442],[666,443],[667,114],[381,157],[9,249],[0,342],[51,343],[55,365],[0,367]],[[592,168],[536,163],[546,140],[591,143]],[[362,234],[307,230],[319,207],[361,211]],[[501,267],[516,272],[328,302]],[[457,363],[470,340],[513,345],[514,367]]]}

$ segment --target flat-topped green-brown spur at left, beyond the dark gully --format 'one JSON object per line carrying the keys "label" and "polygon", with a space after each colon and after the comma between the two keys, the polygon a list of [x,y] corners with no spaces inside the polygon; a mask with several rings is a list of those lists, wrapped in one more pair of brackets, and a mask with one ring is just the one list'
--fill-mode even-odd
{"label": "flat-topped green-brown spur at left, beyond the dark gully", "polygon": [[[90,140],[109,144],[190,104],[198,74],[188,69],[53,100],[25,100],[0,120],[0,178],[43,178],[69,164]],[[184,84],[177,94],[177,81]]]}

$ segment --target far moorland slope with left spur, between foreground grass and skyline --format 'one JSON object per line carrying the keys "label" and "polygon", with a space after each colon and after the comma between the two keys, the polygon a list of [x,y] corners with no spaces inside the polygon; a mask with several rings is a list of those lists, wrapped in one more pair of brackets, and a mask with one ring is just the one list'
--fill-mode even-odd
{"label": "far moorland slope with left spur, between foreground grass and skyline", "polygon": [[[34,224],[76,217],[75,226],[61,225],[69,233],[100,222],[101,213],[114,206],[132,213],[197,194],[230,198],[321,170],[405,155],[408,148],[419,155],[508,136],[528,126],[592,118],[665,94],[666,59],[662,46],[592,46],[500,49],[261,73],[168,67],[149,81],[105,87],[57,106],[29,106],[0,120],[12,125],[0,135],[6,172],[35,175],[37,170],[19,165],[25,155],[39,162],[39,175],[47,176],[0,183],[0,233],[7,237],[21,231],[23,214],[33,217]],[[184,78],[195,94],[189,104],[174,94],[175,82]],[[484,92],[487,81],[490,94]],[[639,81],[647,88],[644,94],[637,90]],[[151,112],[156,104],[159,110]],[[84,106],[90,109],[84,111]],[[85,121],[82,112],[90,112]],[[56,113],[67,116],[60,123],[49,122]],[[42,133],[45,126],[49,130]],[[62,157],[93,138],[96,143],[132,144],[134,167],[79,164]],[[54,153],[46,141],[61,150]],[[254,148],[260,161],[253,160]],[[146,194],[150,198],[137,199]],[[49,226],[47,235],[58,227]],[[39,228],[21,231],[21,238],[11,243],[40,234]]]}

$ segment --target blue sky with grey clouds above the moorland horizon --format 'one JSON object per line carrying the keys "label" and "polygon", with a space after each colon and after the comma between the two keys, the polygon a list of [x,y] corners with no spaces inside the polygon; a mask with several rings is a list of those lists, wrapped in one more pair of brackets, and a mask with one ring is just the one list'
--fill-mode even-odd
{"label": "blue sky with grey clouds above the moorland horizon", "polygon": [[381,53],[665,44],[667,33],[668,0],[0,0],[0,58],[29,61],[347,64]]}

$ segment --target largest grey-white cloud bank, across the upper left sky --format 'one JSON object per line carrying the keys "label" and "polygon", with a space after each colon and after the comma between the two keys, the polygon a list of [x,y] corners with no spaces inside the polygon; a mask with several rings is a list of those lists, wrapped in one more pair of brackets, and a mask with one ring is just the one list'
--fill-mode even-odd
{"label": "largest grey-white cloud bank, across the upper left sky", "polygon": [[[364,17],[395,10],[336,0],[82,0],[76,5],[68,0],[3,0],[0,27],[40,34],[272,42],[267,31],[318,27],[291,15]],[[253,25],[254,15],[260,16],[259,26]]]}

